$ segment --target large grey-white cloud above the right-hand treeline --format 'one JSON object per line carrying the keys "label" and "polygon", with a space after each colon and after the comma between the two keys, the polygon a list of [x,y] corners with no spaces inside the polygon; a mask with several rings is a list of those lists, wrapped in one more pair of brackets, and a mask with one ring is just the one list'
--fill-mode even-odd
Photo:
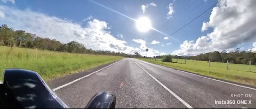
{"label": "large grey-white cloud above the right-hand treeline", "polygon": [[[243,5],[241,5],[243,4]],[[256,1],[221,1],[212,9],[209,22],[202,31],[213,28],[211,33],[193,41],[185,40],[173,55],[197,55],[232,49],[239,44],[256,41]]]}

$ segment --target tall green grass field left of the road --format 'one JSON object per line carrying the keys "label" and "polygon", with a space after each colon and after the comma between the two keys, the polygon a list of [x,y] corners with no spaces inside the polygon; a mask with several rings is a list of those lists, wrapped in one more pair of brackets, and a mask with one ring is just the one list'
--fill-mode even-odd
{"label": "tall green grass field left of the road", "polygon": [[3,71],[6,68],[34,70],[47,81],[122,58],[0,46],[0,81],[3,81]]}

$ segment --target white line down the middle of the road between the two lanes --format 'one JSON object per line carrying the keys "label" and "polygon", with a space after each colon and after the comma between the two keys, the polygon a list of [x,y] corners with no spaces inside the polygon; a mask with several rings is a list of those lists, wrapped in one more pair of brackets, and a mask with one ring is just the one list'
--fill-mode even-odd
{"label": "white line down the middle of the road between the two lanes", "polygon": [[[132,60],[133,61],[133,60]],[[135,64],[137,64],[135,61],[133,61]],[[174,97],[176,97],[177,99],[180,100],[181,103],[183,103],[185,106],[187,106],[188,108],[193,108],[192,106],[190,106],[187,102],[185,102],[185,100],[181,99],[178,95],[176,95],[175,93],[173,93],[172,90],[170,90],[169,88],[167,88],[166,86],[164,86],[164,84],[160,81],[158,81],[155,77],[153,77],[150,73],[148,73],[145,69],[143,69],[139,64],[137,64],[143,71],[145,71],[151,78],[153,78],[155,81],[157,81],[161,86],[163,86],[167,91],[169,91],[169,93],[171,93]]]}

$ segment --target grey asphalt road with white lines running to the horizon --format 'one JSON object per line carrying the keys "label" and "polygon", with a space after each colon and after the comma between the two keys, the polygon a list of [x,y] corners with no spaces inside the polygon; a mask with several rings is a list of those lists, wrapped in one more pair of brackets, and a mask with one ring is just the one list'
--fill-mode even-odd
{"label": "grey asphalt road with white lines running to the horizon", "polygon": [[[113,91],[117,96],[116,108],[256,108],[253,87],[134,58],[124,58],[100,71],[74,77],[48,82],[63,102],[73,108],[84,108],[99,91]],[[235,104],[216,104],[215,100],[234,100]],[[241,100],[247,100],[247,104],[237,104]]]}

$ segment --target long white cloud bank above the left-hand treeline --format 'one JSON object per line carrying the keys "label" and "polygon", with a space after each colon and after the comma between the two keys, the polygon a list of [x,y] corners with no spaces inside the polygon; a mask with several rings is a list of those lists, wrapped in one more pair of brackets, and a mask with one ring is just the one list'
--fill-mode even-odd
{"label": "long white cloud bank above the left-hand treeline", "polygon": [[139,51],[139,48],[127,46],[126,41],[113,37],[108,31],[110,29],[108,24],[98,19],[91,19],[85,27],[82,27],[68,20],[30,10],[21,11],[0,6],[0,12],[5,12],[5,18],[0,19],[1,23],[8,24],[9,27],[17,30],[34,33],[43,38],[57,39],[62,43],[69,43],[74,40],[83,44],[86,48],[101,51],[115,51],[126,54],[134,54]]}

